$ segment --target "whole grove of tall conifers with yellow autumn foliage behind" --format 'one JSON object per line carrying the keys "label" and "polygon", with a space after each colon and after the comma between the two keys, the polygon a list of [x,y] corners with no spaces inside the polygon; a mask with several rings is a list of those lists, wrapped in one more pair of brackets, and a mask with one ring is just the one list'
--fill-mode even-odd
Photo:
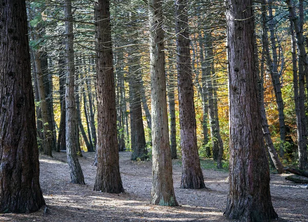
{"label": "whole grove of tall conifers with yellow autumn foliage behind", "polygon": [[307,6],[2,0],[0,213],[45,205],[39,153],[66,152],[84,185],[95,152],[93,190],[121,193],[131,151],[152,162],[150,204],[179,206],[172,159],[181,188],[206,189],[206,158],[229,170],[227,219],[277,219],[271,170],[308,170]]}

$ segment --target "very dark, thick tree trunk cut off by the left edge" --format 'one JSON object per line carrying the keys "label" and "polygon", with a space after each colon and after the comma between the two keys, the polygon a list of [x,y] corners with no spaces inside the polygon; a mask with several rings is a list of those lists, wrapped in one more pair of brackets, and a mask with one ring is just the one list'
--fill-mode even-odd
{"label": "very dark, thick tree trunk cut off by the left edge", "polygon": [[41,191],[26,2],[0,5],[0,212],[45,205]]}

